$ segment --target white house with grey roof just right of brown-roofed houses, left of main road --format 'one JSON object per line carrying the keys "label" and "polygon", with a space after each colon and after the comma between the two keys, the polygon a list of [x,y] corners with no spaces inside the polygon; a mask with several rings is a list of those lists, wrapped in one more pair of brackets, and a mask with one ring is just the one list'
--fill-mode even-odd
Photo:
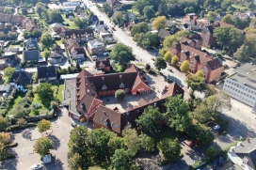
{"label": "white house with grey roof just right of brown-roofed houses, left of main road", "polygon": [[88,51],[91,54],[104,54],[104,42],[100,39],[88,41]]}

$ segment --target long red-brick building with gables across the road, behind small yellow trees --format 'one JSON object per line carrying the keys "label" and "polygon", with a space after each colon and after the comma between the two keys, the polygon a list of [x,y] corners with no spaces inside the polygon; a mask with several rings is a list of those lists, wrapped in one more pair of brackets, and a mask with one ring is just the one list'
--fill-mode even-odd
{"label": "long red-brick building with gables across the road, behind small yellow trees", "polygon": [[219,59],[214,59],[209,54],[190,47],[188,42],[174,43],[169,51],[179,57],[180,63],[188,60],[192,73],[202,70],[207,83],[214,82],[221,77],[223,66]]}

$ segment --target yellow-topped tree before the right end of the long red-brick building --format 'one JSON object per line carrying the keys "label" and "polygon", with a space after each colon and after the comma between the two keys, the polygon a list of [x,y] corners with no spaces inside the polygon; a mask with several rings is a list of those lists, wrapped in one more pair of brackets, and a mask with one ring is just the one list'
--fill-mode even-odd
{"label": "yellow-topped tree before the right end of the long red-brick building", "polygon": [[187,75],[185,82],[193,91],[204,91],[206,89],[204,74],[199,70],[195,75]]}

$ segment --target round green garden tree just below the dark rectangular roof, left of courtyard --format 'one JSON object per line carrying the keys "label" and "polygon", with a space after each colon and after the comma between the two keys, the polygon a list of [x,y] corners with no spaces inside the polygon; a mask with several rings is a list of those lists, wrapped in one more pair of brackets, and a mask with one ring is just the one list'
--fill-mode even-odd
{"label": "round green garden tree just below the dark rectangular roof, left of courtyard", "polygon": [[41,100],[51,100],[54,96],[54,90],[51,88],[51,84],[41,83],[37,86],[36,92],[39,94]]}

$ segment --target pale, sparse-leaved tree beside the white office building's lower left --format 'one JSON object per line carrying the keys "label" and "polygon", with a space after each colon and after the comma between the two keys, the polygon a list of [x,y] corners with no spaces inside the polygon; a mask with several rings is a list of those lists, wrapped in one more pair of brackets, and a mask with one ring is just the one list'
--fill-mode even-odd
{"label": "pale, sparse-leaved tree beside the white office building's lower left", "polygon": [[231,97],[224,92],[219,92],[218,94],[207,98],[207,105],[210,111],[215,113],[216,111],[221,111],[223,107],[231,109]]}

